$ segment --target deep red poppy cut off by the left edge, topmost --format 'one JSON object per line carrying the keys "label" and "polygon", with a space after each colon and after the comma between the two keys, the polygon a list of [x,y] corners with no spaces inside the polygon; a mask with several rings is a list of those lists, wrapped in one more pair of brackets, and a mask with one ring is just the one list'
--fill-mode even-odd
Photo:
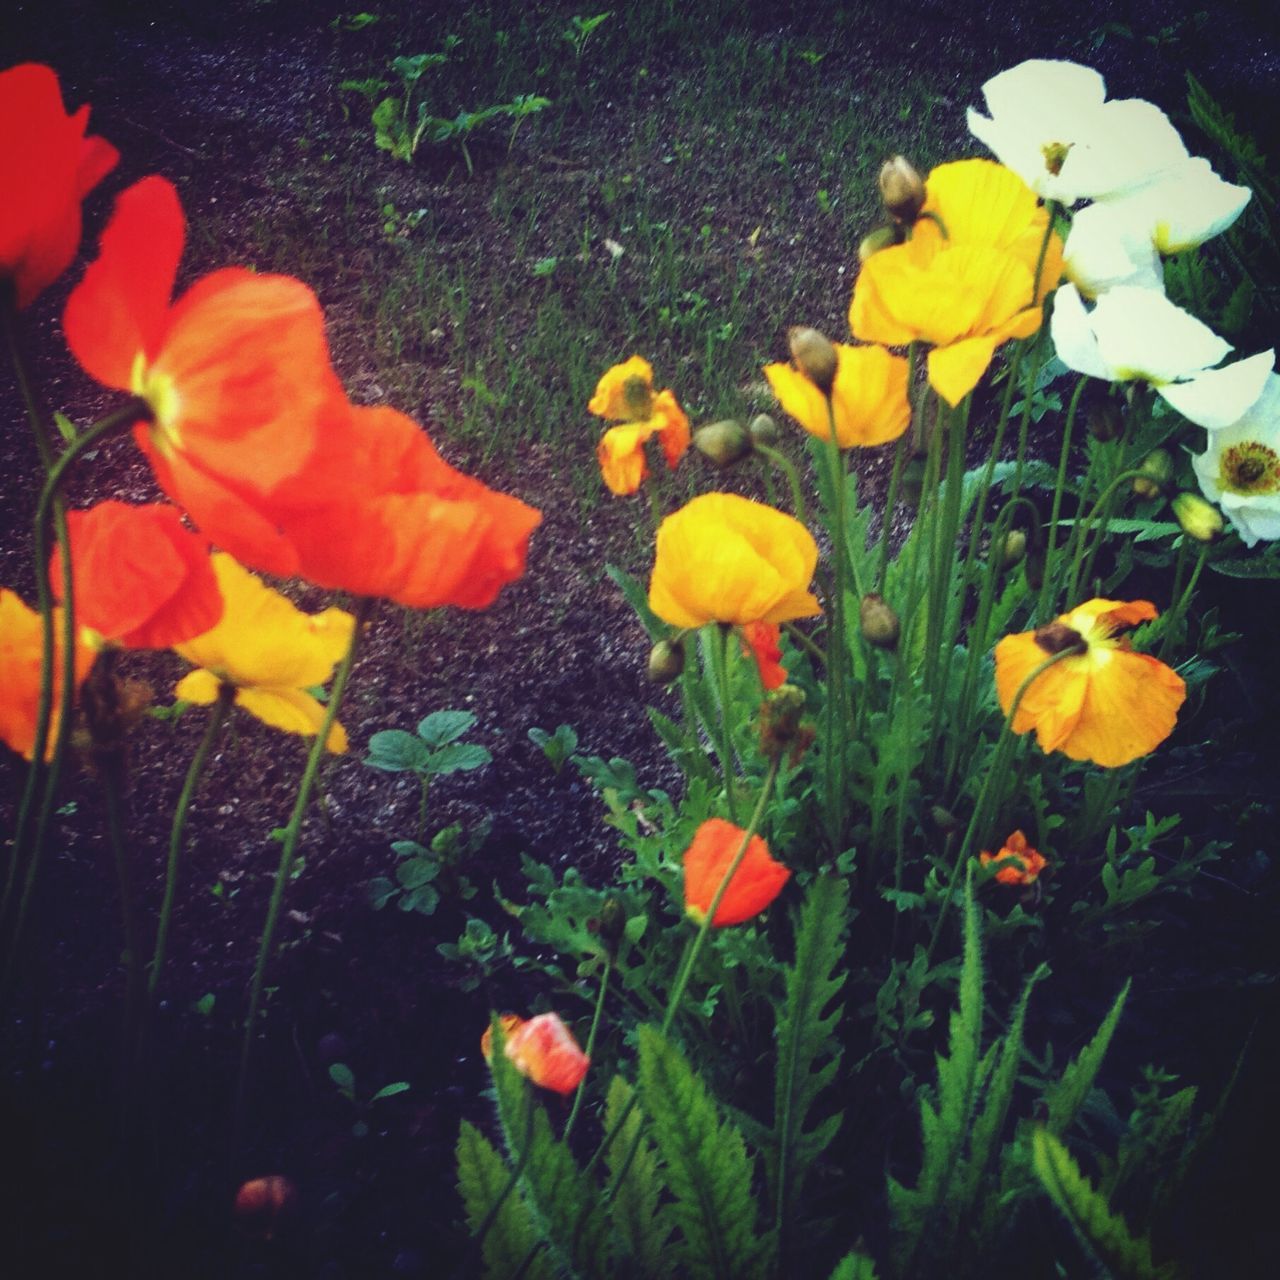
{"label": "deep red poppy cut off by the left edge, topmost", "polygon": [[119,160],[102,138],[84,136],[88,108],[63,108],[58,76],[23,63],[0,72],[0,276],[29,306],[72,264],[81,201]]}

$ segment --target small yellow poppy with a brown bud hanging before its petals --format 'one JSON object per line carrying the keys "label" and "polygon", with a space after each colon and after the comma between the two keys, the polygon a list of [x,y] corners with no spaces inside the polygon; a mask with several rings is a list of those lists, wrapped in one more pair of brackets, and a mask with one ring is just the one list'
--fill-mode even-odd
{"label": "small yellow poppy with a brown bud hanging before its petals", "polygon": [[[831,388],[836,443],[847,449],[855,444],[896,440],[911,421],[908,362],[883,347],[849,347],[838,342],[832,346],[836,348],[836,380]],[[812,379],[788,364],[765,365],[764,376],[783,412],[819,440],[831,435],[827,398]]]}

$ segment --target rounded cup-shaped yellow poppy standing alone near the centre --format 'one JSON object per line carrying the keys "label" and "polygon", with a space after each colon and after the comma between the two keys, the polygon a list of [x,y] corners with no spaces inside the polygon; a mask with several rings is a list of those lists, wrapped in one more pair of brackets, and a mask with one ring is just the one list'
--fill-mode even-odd
{"label": "rounded cup-shaped yellow poppy standing alone near the centre", "polygon": [[704,493],[658,527],[649,607],[676,627],[786,622],[822,609],[809,590],[818,544],[791,516]]}

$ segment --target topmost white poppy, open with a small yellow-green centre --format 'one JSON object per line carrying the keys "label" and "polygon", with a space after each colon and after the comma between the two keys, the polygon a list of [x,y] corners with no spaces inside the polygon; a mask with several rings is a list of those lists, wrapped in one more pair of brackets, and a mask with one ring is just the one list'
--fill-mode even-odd
{"label": "topmost white poppy, open with a small yellow-green centre", "polygon": [[1106,82],[1078,63],[1034,58],[992,77],[982,93],[991,116],[970,108],[970,133],[1044,200],[1116,195],[1187,159],[1160,108],[1106,101]]}

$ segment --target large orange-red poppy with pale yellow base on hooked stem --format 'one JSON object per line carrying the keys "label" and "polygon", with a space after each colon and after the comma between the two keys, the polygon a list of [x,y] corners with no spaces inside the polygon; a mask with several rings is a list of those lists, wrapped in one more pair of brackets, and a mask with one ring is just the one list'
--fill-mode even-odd
{"label": "large orange-red poppy with pale yellow base on hooked stem", "polygon": [[134,438],[200,530],[243,563],[291,576],[275,494],[308,465],[344,465],[320,449],[349,412],[320,305],[300,280],[238,268],[172,303],[184,236],[172,183],[125,191],[68,300],[67,340],[92,378],[148,403]]}

